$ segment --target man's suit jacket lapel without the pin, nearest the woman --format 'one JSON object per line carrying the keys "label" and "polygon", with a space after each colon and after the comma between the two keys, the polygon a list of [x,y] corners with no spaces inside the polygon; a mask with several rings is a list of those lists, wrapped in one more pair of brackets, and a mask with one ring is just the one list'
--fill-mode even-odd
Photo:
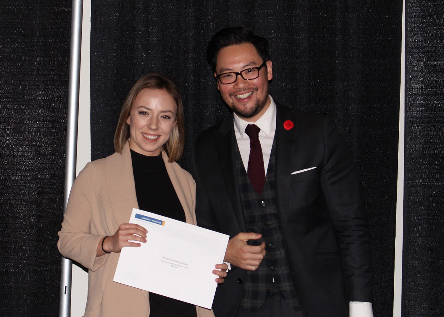
{"label": "man's suit jacket lapel without the pin, nearest the woman", "polygon": [[225,180],[226,190],[230,197],[231,204],[234,209],[234,214],[238,220],[239,227],[242,232],[246,232],[245,216],[242,207],[242,199],[239,192],[238,176],[236,172],[235,159],[234,159],[234,125],[233,114],[230,114],[225,121],[222,122],[218,131],[214,132],[216,139],[216,148],[219,155],[219,163],[222,169],[222,175]]}

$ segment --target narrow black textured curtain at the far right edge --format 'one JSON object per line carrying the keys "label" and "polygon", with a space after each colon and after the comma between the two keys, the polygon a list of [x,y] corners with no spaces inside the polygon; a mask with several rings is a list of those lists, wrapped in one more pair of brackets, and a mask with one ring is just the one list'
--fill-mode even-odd
{"label": "narrow black textured curtain at the far right edge", "polygon": [[402,316],[444,316],[444,7],[406,1]]}

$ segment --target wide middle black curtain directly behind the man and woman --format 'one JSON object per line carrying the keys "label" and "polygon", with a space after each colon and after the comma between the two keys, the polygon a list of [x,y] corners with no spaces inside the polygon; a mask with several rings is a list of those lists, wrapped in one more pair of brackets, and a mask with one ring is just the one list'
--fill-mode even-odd
{"label": "wide middle black curtain directly behind the man and woman", "polygon": [[193,138],[227,112],[205,62],[223,27],[270,41],[270,94],[291,108],[333,117],[359,166],[370,219],[375,317],[392,316],[398,153],[401,0],[93,0],[91,160],[112,139],[131,86],[158,71],[178,83]]}

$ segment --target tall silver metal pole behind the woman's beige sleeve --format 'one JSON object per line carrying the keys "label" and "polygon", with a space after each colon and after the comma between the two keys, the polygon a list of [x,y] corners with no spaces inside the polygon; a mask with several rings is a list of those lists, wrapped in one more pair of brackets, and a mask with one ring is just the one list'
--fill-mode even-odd
{"label": "tall silver metal pole behind the woman's beige sleeve", "polygon": [[[71,52],[69,61],[68,118],[66,132],[65,192],[63,213],[66,211],[69,192],[75,180],[77,158],[77,124],[79,121],[80,49],[82,44],[83,0],[72,1]],[[72,262],[62,257],[60,274],[59,317],[71,316]]]}

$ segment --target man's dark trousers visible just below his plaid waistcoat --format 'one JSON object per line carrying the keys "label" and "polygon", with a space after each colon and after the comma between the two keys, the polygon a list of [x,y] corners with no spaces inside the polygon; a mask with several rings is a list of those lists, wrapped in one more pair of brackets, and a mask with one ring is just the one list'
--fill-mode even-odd
{"label": "man's dark trousers visible just below his plaid waistcoat", "polygon": [[238,308],[236,317],[303,317],[301,311],[294,310],[277,293],[259,307],[255,312]]}

